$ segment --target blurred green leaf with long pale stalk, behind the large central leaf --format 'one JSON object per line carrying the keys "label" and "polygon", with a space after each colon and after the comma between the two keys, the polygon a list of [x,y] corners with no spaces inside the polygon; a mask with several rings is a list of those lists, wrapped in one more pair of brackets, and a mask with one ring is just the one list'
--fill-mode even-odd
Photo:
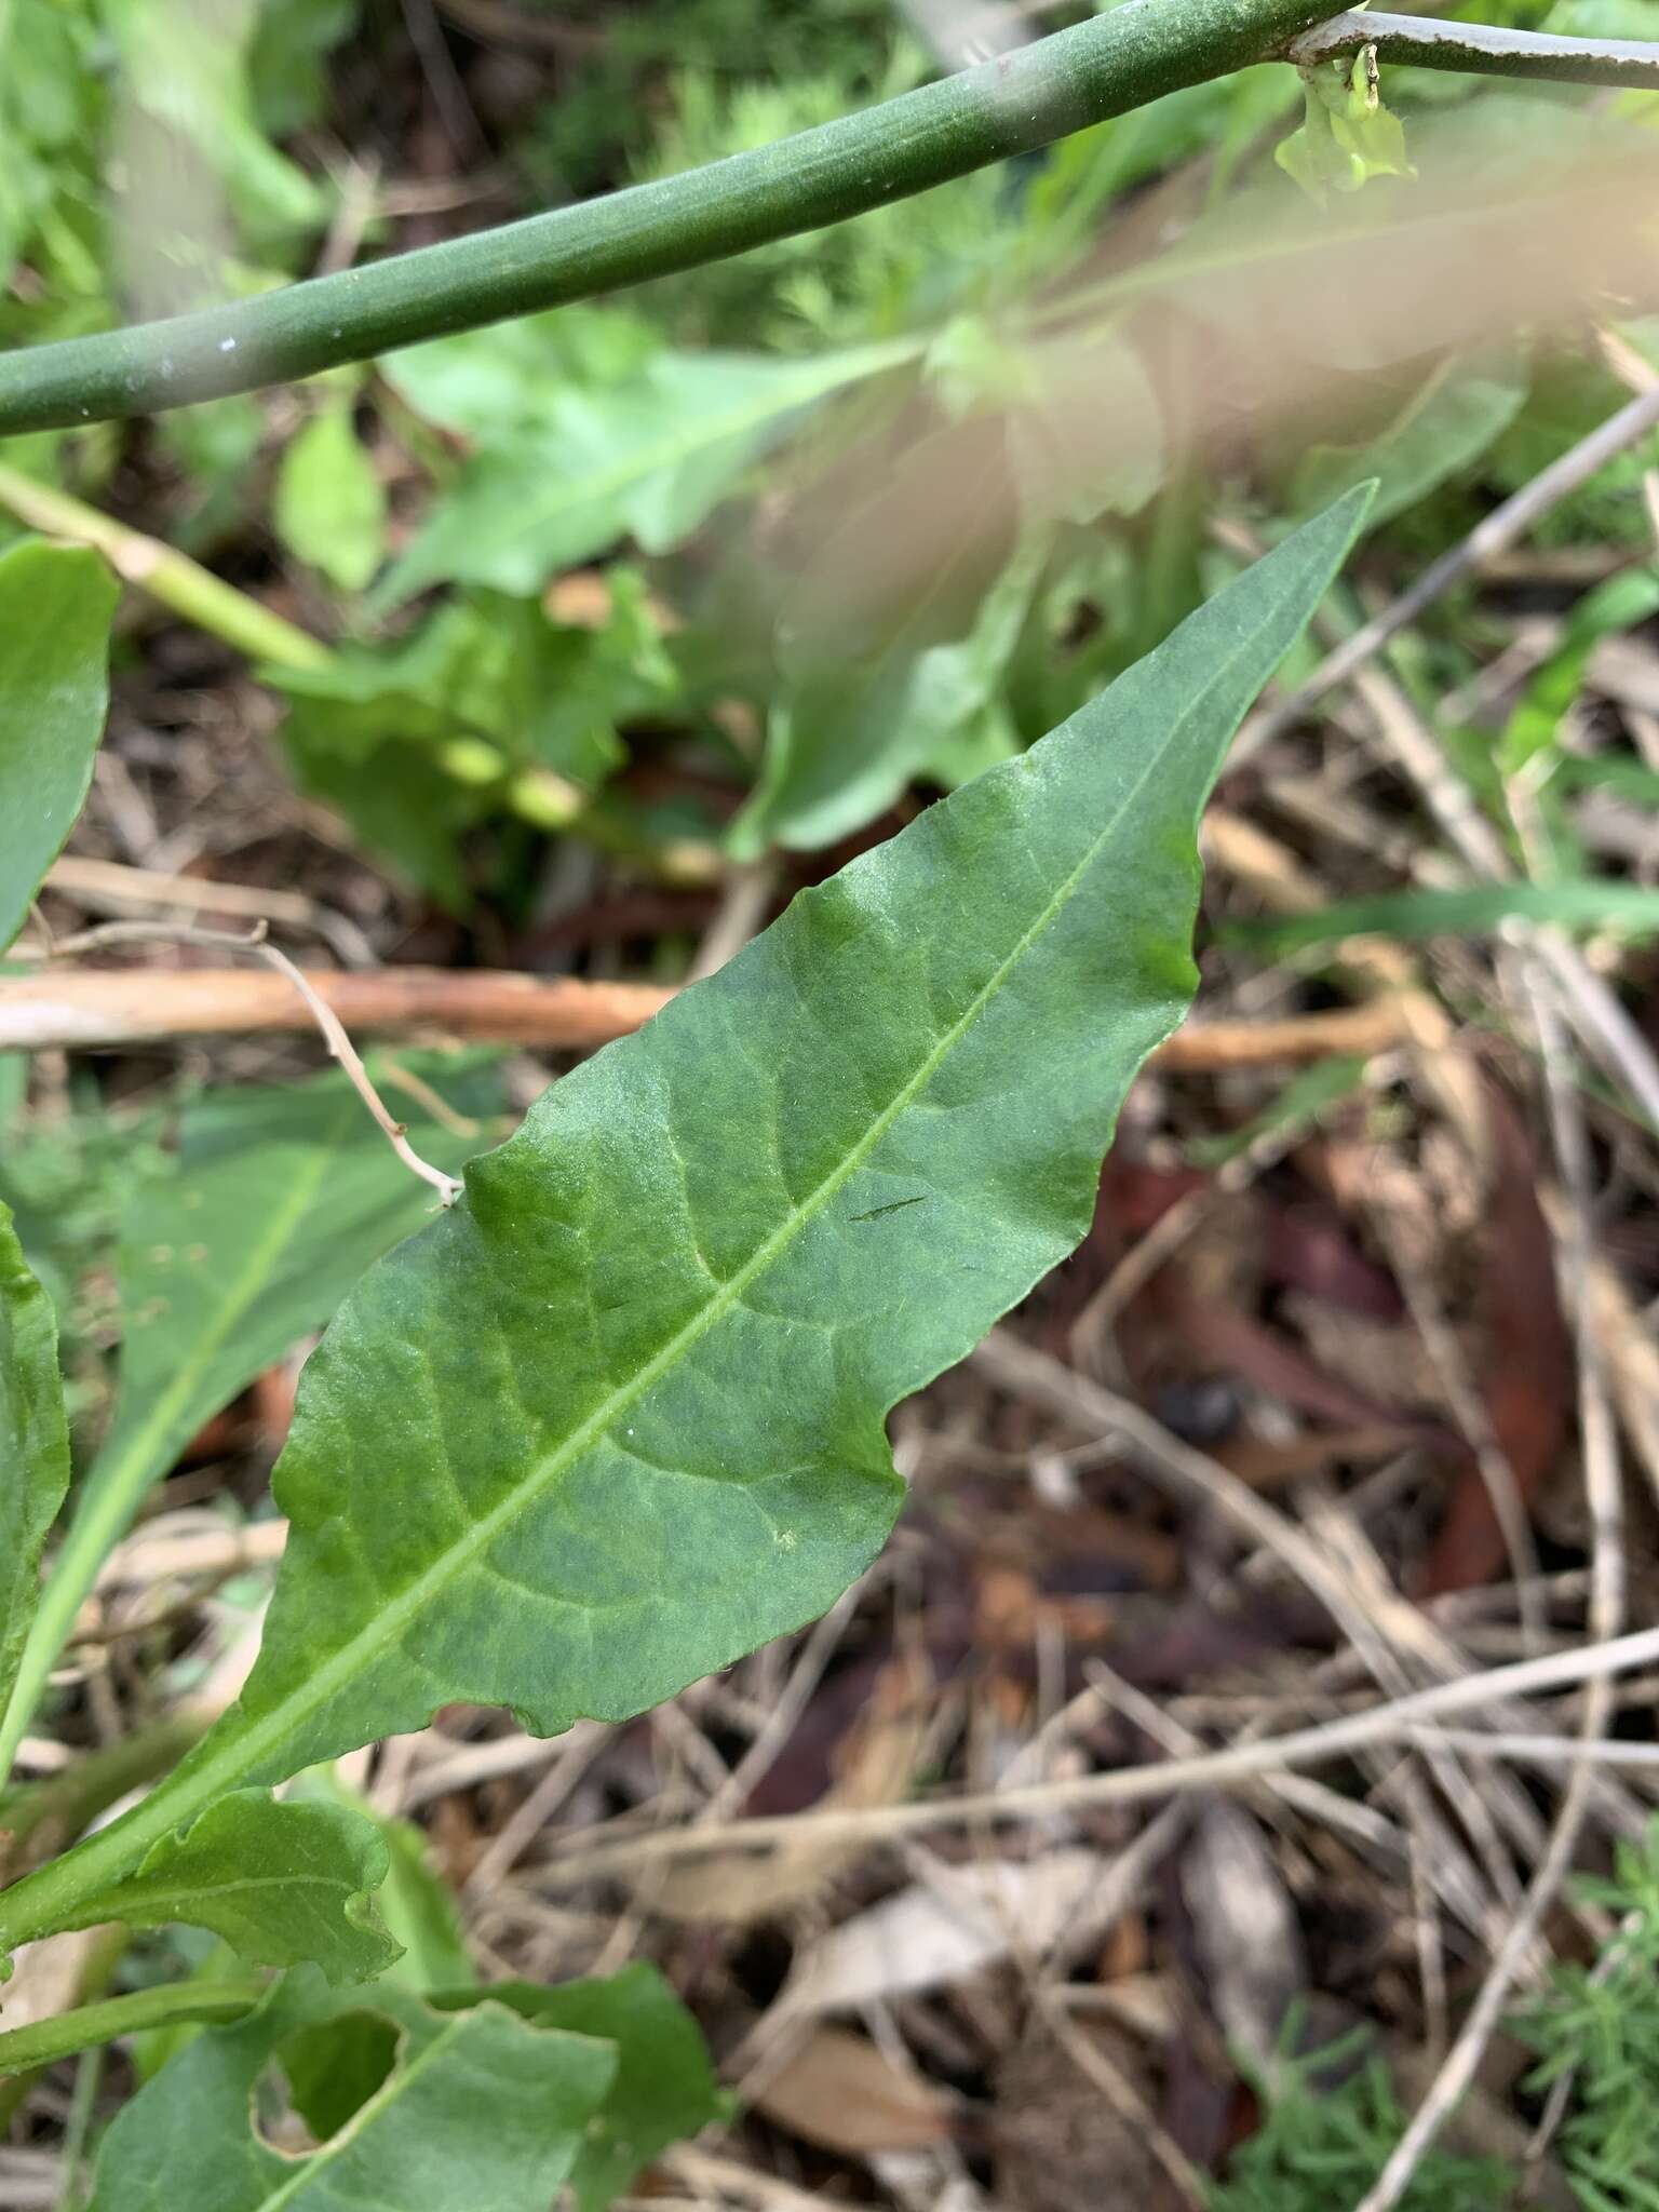
{"label": "blurred green leaf with long pale stalk, behind the large central leaf", "polygon": [[[491,1110],[491,1075],[456,1079],[405,1060],[453,1102]],[[436,1124],[407,1097],[416,1150],[460,1168],[489,1130]],[[139,1179],[122,1219],[122,1363],[115,1418],[75,1495],[69,1535],[35,1615],[0,1767],[15,1752],[111,1544],[204,1420],[321,1327],[356,1276],[420,1228],[431,1192],[396,1159],[345,1075],[212,1093],[186,1108],[177,1172]]]}

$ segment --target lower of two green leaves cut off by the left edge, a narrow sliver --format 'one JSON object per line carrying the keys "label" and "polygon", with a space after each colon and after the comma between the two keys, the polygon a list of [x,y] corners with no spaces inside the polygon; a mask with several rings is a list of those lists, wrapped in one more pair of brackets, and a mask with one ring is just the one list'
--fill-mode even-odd
{"label": "lower of two green leaves cut off by the left edge, a narrow sliver", "polygon": [[58,1321],[24,1263],[11,1208],[0,1203],[0,1708],[35,1615],[40,1553],[66,1491]]}

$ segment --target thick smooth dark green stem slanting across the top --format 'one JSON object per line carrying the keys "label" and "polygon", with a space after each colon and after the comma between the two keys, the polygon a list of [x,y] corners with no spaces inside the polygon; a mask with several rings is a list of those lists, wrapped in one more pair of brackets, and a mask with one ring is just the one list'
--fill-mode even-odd
{"label": "thick smooth dark green stem slanting across the top", "polygon": [[681,177],[230,307],[0,358],[0,436],[155,414],[593,299],[841,223],[1261,62],[1310,0],[1126,0],[1073,31]]}

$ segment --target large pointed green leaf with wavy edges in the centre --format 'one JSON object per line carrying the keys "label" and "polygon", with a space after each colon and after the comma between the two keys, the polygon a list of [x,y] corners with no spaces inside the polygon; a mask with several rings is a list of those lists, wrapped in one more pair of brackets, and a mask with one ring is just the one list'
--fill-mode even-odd
{"label": "large pointed green leaf with wavy edges in the centre", "polygon": [[1192,995],[1199,807],[1363,515],[796,898],[369,1270],[301,1385],[259,1663],[131,1838],[451,1701],[622,1719],[847,1588],[902,1495],[885,1411],[1088,1228]]}

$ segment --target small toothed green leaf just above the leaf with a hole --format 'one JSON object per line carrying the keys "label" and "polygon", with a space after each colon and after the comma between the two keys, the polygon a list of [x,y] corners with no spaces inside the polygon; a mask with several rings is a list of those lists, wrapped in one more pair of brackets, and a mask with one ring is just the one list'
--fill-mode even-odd
{"label": "small toothed green leaf just above the leaf with a hole", "polygon": [[330,1982],[367,1982],[398,1958],[374,1907],[387,1847],[343,1805],[219,1798],[186,1836],[164,1836],[135,1874],[84,1898],[64,1927],[212,1929],[254,1966],[314,1960]]}

